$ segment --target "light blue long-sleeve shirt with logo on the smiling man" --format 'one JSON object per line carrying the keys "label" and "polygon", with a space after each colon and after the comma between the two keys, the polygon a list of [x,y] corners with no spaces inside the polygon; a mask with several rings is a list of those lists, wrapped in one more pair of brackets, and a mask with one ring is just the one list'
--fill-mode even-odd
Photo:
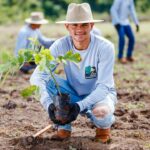
{"label": "light blue long-sleeve shirt with logo on the smiling man", "polygon": [[[82,61],[80,63],[67,62],[67,65],[64,65],[66,78],[70,86],[79,96],[88,95],[78,102],[81,111],[104,100],[109,93],[116,94],[113,78],[115,54],[114,45],[111,42],[91,34],[91,42],[88,48],[79,51],[73,46],[72,38],[66,36],[55,41],[50,50],[54,57],[64,55],[69,50],[81,55]],[[46,90],[47,80],[49,80],[48,75],[40,73],[38,68],[30,79],[31,84],[40,87],[41,103],[46,110],[52,103]]]}

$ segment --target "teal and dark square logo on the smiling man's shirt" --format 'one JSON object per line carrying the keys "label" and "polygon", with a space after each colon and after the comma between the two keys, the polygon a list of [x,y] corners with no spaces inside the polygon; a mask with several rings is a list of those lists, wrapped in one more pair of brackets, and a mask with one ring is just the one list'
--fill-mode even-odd
{"label": "teal and dark square logo on the smiling man's shirt", "polygon": [[96,67],[87,66],[85,67],[85,78],[92,79],[97,77]]}

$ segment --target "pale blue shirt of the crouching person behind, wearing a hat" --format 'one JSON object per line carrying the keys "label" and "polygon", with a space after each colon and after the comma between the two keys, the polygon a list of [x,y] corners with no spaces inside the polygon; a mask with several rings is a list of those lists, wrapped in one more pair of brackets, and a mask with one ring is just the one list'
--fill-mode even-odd
{"label": "pale blue shirt of the crouching person behind, wearing a hat", "polygon": [[36,38],[46,48],[49,48],[54,40],[46,38],[42,35],[39,29],[33,30],[29,25],[25,25],[19,32],[15,48],[15,56],[18,55],[20,49],[31,48],[31,42],[28,38]]}

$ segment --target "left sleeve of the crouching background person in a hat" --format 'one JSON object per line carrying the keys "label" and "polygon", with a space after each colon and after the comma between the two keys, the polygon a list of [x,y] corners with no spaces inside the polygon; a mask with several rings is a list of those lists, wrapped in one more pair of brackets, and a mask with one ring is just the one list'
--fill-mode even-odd
{"label": "left sleeve of the crouching background person in a hat", "polygon": [[18,52],[20,49],[25,49],[27,47],[27,43],[27,34],[21,31],[17,37],[15,56],[18,56]]}

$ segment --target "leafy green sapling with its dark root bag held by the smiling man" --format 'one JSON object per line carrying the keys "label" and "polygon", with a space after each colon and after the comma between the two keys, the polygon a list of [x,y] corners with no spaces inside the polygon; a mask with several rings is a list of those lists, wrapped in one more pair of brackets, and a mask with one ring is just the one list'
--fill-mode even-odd
{"label": "leafy green sapling with its dark root bag held by the smiling man", "polygon": [[[53,70],[58,64],[66,64],[67,61],[78,63],[81,61],[80,54],[73,53],[71,50],[68,51],[64,56],[58,56],[54,58],[51,55],[49,49],[42,47],[36,39],[30,38],[32,41],[31,49],[23,49],[19,51],[18,57],[10,56],[9,61],[5,64],[0,65],[0,79],[5,81],[6,77],[11,73],[14,74],[16,70],[19,70],[25,62],[35,62],[39,66],[41,71],[49,73],[56,85],[57,96],[53,97],[54,105],[56,106],[56,118],[61,120],[61,116],[67,117],[67,112],[69,111],[69,95],[60,92],[59,85],[53,75]],[[27,97],[33,94],[38,89],[37,86],[30,86],[22,91],[22,96]]]}

